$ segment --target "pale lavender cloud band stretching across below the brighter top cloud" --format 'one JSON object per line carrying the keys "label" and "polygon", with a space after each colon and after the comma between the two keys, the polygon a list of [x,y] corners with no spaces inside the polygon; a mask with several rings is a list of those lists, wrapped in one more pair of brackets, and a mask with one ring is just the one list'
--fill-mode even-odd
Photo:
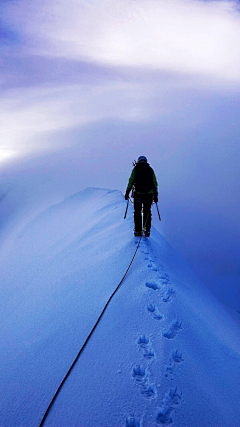
{"label": "pale lavender cloud band stretching across below the brighter top cloud", "polygon": [[[215,109],[234,99],[231,107],[226,105],[219,114],[220,120],[224,117],[223,132],[227,132],[231,115],[238,117],[238,96],[236,90],[226,95],[222,87],[216,90],[202,84],[197,88],[195,81],[171,77],[14,87],[1,96],[0,159],[69,147],[76,143],[74,134],[80,133],[84,145],[84,129],[108,123],[110,135],[117,122],[121,123],[123,133],[129,126],[135,127],[135,144],[149,141],[150,135],[154,135],[154,141],[160,138],[161,145],[168,146],[171,152],[179,144],[186,144],[186,135],[189,140],[193,132],[204,133]],[[237,123],[238,119],[238,128]],[[72,136],[66,136],[66,132]],[[88,140],[89,146],[95,139],[96,135]],[[99,145],[104,139],[111,145],[106,131],[99,133],[97,139]],[[155,148],[153,145],[153,151]]]}

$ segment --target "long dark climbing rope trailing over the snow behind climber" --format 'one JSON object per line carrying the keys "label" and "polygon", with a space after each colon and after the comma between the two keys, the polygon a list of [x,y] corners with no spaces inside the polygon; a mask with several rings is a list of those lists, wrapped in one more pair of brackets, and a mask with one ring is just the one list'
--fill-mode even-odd
{"label": "long dark climbing rope trailing over the snow behind climber", "polygon": [[[151,209],[150,209],[150,211],[151,211]],[[150,211],[149,211],[149,213],[150,213]],[[149,213],[148,213],[148,215],[149,215]],[[148,218],[148,215],[147,215],[147,218]],[[147,219],[146,219],[146,222],[147,222]],[[57,398],[57,395],[59,394],[59,392],[60,392],[60,390],[61,390],[61,388],[62,388],[63,384],[65,383],[65,381],[66,381],[66,380],[67,380],[67,378],[69,377],[69,375],[70,375],[70,373],[71,373],[72,369],[73,369],[73,368],[74,368],[74,366],[76,365],[76,363],[77,363],[77,361],[78,361],[78,359],[79,359],[80,355],[82,354],[82,352],[83,352],[84,348],[86,347],[86,345],[87,345],[87,343],[88,343],[89,339],[91,338],[91,336],[92,336],[93,332],[95,331],[95,329],[96,329],[96,327],[97,327],[98,323],[100,322],[100,320],[101,320],[101,318],[102,318],[102,316],[103,316],[104,312],[106,311],[106,308],[107,308],[107,306],[109,305],[109,303],[110,303],[111,299],[114,297],[115,293],[118,291],[118,289],[120,288],[120,286],[121,286],[122,282],[124,281],[124,279],[125,279],[125,277],[126,277],[126,275],[127,275],[128,271],[129,271],[129,269],[130,269],[130,267],[131,267],[131,265],[132,265],[132,263],[133,263],[133,260],[134,260],[134,258],[135,258],[135,256],[136,256],[136,253],[137,253],[138,248],[139,248],[139,246],[140,246],[140,243],[141,243],[142,237],[143,237],[143,236],[140,236],[140,239],[139,239],[139,242],[138,242],[137,248],[136,248],[136,250],[135,250],[135,253],[134,253],[133,257],[132,257],[132,260],[131,260],[131,262],[130,262],[130,264],[129,264],[129,266],[128,266],[128,268],[127,268],[127,270],[126,270],[126,272],[125,272],[125,274],[124,274],[124,276],[123,276],[123,278],[122,278],[122,280],[119,282],[119,284],[117,285],[117,287],[116,287],[115,291],[114,291],[114,292],[112,293],[112,295],[109,297],[108,301],[107,301],[107,302],[106,302],[106,304],[105,304],[104,309],[102,310],[102,312],[101,312],[100,316],[98,317],[98,319],[97,319],[97,321],[96,321],[95,325],[93,326],[93,328],[92,328],[92,330],[91,330],[90,334],[89,334],[89,335],[88,335],[88,337],[86,338],[86,341],[84,342],[84,344],[83,344],[83,346],[81,347],[81,349],[80,349],[79,353],[77,354],[77,356],[76,356],[75,360],[73,361],[73,363],[72,363],[72,365],[70,366],[69,370],[67,371],[67,373],[66,373],[65,377],[63,378],[63,380],[62,380],[61,384],[59,385],[58,389],[56,390],[56,392],[55,392],[55,394],[54,394],[54,396],[53,396],[53,398],[52,398],[51,402],[49,403],[48,408],[47,408],[47,410],[46,410],[46,412],[45,412],[45,414],[44,414],[44,416],[43,416],[43,418],[42,418],[42,421],[41,421],[41,423],[39,424],[39,427],[42,427],[42,426],[44,425],[44,422],[45,422],[45,420],[46,420],[46,418],[47,418],[47,416],[48,416],[48,414],[49,414],[49,412],[50,412],[50,409],[52,408],[53,403],[55,402],[55,400],[56,400],[56,398]]]}

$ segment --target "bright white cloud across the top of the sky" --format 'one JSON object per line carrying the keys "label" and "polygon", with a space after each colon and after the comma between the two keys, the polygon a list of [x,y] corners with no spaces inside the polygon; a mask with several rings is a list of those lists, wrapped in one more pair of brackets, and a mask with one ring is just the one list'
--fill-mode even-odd
{"label": "bright white cloud across the top of the sky", "polygon": [[236,5],[201,0],[48,0],[36,5],[25,0],[15,6],[22,8],[15,24],[38,40],[34,50],[44,55],[239,81]]}

